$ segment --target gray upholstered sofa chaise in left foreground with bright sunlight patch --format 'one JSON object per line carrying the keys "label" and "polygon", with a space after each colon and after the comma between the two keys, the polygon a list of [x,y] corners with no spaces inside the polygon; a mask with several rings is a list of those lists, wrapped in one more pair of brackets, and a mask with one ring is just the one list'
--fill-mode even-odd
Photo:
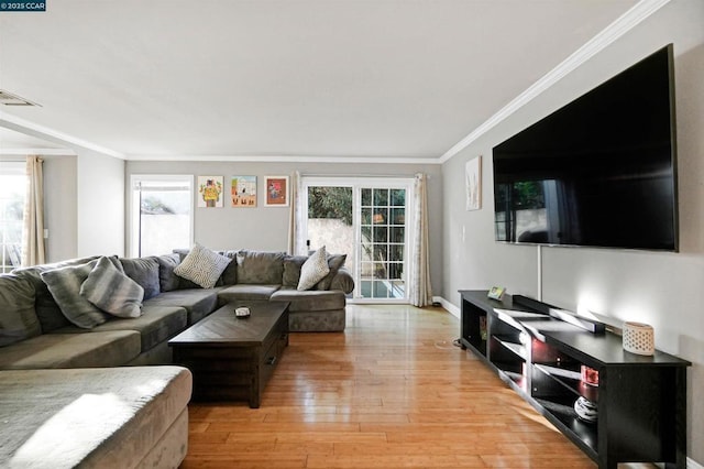
{"label": "gray upholstered sofa chaise in left foreground with bright sunlight patch", "polygon": [[0,467],[177,468],[191,374],[180,367],[0,372]]}

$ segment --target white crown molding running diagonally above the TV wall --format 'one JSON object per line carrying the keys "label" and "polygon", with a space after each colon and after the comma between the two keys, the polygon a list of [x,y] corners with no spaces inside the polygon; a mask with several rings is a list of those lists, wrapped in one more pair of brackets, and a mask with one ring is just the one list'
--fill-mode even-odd
{"label": "white crown molding running diagonally above the TV wall", "polygon": [[616,21],[572,53],[572,55],[560,63],[560,65],[550,70],[538,81],[534,83],[528,89],[514,98],[508,105],[503,107],[480,127],[474,129],[472,133],[460,140],[454,146],[440,156],[440,163],[444,163],[452,156],[460,153],[480,137],[488,132],[503,120],[507,119],[518,109],[532,101],[536,97],[542,94],[542,91],[553,86],[565,75],[572,73],[575,68],[584,64],[597,53],[602,52],[614,41],[622,37],[669,2],[670,0],[641,0],[636,3],[630,10],[620,15]]}

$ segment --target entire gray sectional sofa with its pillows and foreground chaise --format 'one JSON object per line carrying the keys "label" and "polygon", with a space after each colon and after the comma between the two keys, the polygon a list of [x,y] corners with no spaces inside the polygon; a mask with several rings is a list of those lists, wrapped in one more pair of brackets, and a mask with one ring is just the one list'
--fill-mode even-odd
{"label": "entire gray sectional sofa with its pillows and foreground chaise", "polygon": [[[344,257],[324,255],[320,261],[317,255],[318,268],[327,264],[324,275],[316,272],[316,282],[299,290],[309,277],[308,257],[205,250],[224,268],[217,271],[217,280],[210,272],[213,285],[204,287],[199,276],[190,277],[185,270],[193,266],[195,248],[136,259],[75,259],[0,275],[0,419],[10,422],[0,429],[0,467],[99,467],[124,451],[131,452],[124,467],[176,467],[187,447],[188,400],[183,396],[190,396],[191,378],[188,370],[170,366],[167,342],[229,302],[288,302],[289,330],[344,330],[345,298],[354,287]],[[130,371],[116,368],[122,366],[130,366]],[[94,381],[101,384],[88,384]],[[147,385],[141,400],[134,390],[145,383],[153,386]],[[46,432],[47,419],[54,423],[62,405],[70,406],[78,396],[103,395],[110,389],[120,397],[116,406],[127,404],[127,413],[114,416],[105,434],[87,432],[74,447],[61,438],[56,444],[61,435]],[[173,401],[169,415],[150,411],[161,408],[164,400]],[[28,414],[22,418],[21,408]],[[139,441],[139,432],[125,430],[147,427],[155,432],[147,443]],[[75,463],[38,454],[34,461],[26,459],[32,448],[53,444],[58,451],[77,450],[78,456],[66,459]]]}

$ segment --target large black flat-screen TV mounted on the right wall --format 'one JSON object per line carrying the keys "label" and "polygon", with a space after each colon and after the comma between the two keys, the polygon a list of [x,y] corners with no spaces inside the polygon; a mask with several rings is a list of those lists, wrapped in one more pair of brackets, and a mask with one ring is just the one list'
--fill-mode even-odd
{"label": "large black flat-screen TV mounted on the right wall", "polygon": [[678,250],[672,44],[493,151],[497,241]]}

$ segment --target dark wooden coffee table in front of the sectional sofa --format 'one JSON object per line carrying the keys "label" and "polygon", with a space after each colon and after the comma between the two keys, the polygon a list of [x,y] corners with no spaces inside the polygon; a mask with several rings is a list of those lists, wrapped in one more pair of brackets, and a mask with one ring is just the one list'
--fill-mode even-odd
{"label": "dark wooden coffee table in front of the sectional sofa", "polygon": [[[238,318],[234,308],[251,316]],[[288,303],[228,303],[168,341],[174,363],[194,374],[196,401],[249,401],[256,408],[288,346]]]}

